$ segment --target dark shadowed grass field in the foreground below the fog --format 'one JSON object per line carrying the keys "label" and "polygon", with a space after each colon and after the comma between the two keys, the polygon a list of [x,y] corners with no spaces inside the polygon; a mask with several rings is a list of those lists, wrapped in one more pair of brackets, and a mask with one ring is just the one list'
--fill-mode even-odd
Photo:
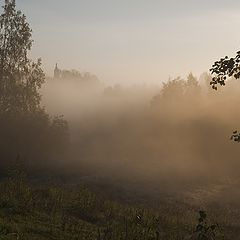
{"label": "dark shadowed grass field in the foreground below the fog", "polygon": [[124,191],[118,192],[123,195],[118,201],[109,191],[101,192],[104,188],[95,191],[83,184],[33,184],[22,175],[2,180],[0,239],[190,239],[200,207],[207,211],[209,224],[219,226],[214,239],[240,236],[239,210],[231,206],[167,198],[148,204],[127,194],[125,201]]}

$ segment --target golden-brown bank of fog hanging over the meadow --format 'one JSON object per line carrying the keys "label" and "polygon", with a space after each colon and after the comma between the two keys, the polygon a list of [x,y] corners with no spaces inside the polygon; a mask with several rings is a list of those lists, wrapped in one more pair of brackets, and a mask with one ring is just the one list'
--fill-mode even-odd
{"label": "golden-brown bank of fog hanging over the meadow", "polygon": [[[66,169],[174,189],[238,179],[239,82],[211,89],[208,74],[163,85],[83,85],[48,79],[43,105],[70,129]],[[190,79],[190,80],[189,80]]]}

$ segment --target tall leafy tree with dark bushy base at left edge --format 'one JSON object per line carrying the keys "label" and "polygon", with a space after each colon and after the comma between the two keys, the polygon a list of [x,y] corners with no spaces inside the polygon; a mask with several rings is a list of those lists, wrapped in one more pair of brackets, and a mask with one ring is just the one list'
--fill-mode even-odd
{"label": "tall leafy tree with dark bushy base at left edge", "polygon": [[[51,118],[41,107],[45,80],[41,60],[28,57],[32,30],[15,0],[5,0],[0,15],[0,163],[17,154],[28,160],[50,159],[64,151],[67,122]],[[59,151],[60,152],[60,151]]]}

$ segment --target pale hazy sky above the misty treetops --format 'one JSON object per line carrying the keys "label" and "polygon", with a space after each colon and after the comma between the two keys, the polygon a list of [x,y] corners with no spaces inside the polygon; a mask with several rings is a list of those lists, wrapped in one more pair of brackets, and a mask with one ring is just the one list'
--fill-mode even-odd
{"label": "pale hazy sky above the misty treetops", "polygon": [[239,0],[16,1],[48,75],[58,62],[105,82],[161,82],[240,49]]}

